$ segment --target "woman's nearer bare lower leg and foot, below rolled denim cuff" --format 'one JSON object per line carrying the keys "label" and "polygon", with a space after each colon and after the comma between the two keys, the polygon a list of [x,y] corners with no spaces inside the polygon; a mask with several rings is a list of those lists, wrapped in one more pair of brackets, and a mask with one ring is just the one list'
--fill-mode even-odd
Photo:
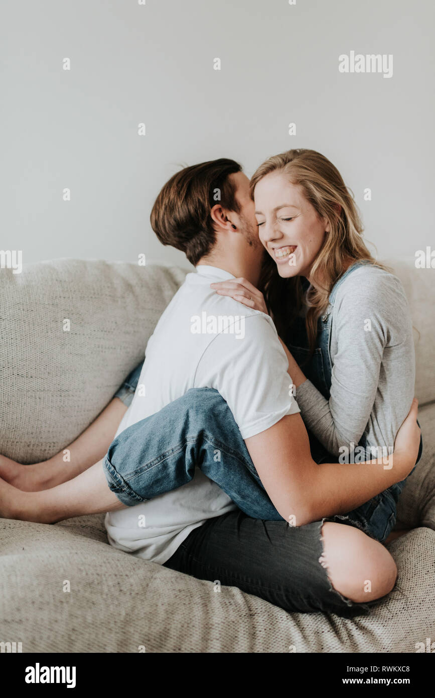
{"label": "woman's nearer bare lower leg and foot, below rolled denim cuff", "polygon": [[107,484],[102,460],[73,480],[40,492],[23,492],[0,480],[0,517],[56,523],[83,514],[125,509]]}

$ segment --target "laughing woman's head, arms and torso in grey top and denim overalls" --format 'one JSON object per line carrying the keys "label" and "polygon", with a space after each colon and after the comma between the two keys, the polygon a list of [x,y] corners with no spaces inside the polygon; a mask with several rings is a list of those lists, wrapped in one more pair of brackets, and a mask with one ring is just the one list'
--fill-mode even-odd
{"label": "laughing woman's head, arms and torso in grey top and denim overalls", "polygon": [[[351,194],[337,168],[316,151],[268,158],[251,179],[251,194],[268,253],[266,302],[246,281],[213,288],[250,308],[270,309],[317,462],[326,452],[342,463],[385,457],[415,381],[402,284],[370,255]],[[360,507],[380,541],[395,524],[403,484]]]}

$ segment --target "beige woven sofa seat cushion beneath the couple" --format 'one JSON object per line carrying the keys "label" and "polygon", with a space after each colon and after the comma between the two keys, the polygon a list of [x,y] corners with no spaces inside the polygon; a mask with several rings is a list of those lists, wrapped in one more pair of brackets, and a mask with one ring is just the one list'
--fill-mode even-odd
{"label": "beige woven sofa seat cushion beneath the couple", "polygon": [[[0,630],[25,652],[415,652],[435,637],[435,532],[391,544],[395,590],[369,616],[288,614],[236,587],[116,550],[102,517],[0,520]],[[88,537],[88,536],[91,537]],[[101,538],[100,538],[101,535]]]}

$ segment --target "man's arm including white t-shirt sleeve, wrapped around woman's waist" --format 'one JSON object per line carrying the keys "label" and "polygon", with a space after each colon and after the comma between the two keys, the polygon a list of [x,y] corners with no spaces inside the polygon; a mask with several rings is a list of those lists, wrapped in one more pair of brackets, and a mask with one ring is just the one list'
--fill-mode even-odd
{"label": "man's arm including white t-shirt sleeve, wrapped around woman's waist", "polygon": [[230,334],[211,341],[199,362],[196,383],[217,389],[227,401],[261,482],[284,519],[293,515],[300,526],[350,512],[409,475],[420,443],[416,407],[409,420],[413,428],[401,428],[409,443],[404,445],[402,438],[401,445],[396,439],[394,466],[391,458],[381,464],[317,465],[289,391],[293,381],[287,369],[275,327],[265,315],[252,315],[246,318],[240,341]]}

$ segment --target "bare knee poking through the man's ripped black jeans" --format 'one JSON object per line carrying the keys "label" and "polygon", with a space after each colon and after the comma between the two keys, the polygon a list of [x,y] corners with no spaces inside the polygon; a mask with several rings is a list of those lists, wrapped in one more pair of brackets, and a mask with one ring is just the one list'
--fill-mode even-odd
{"label": "bare knee poking through the man's ripped black jeans", "polygon": [[397,567],[388,550],[359,528],[328,521],[322,526],[326,568],[336,591],[351,601],[365,603],[381,598],[395,586]]}

